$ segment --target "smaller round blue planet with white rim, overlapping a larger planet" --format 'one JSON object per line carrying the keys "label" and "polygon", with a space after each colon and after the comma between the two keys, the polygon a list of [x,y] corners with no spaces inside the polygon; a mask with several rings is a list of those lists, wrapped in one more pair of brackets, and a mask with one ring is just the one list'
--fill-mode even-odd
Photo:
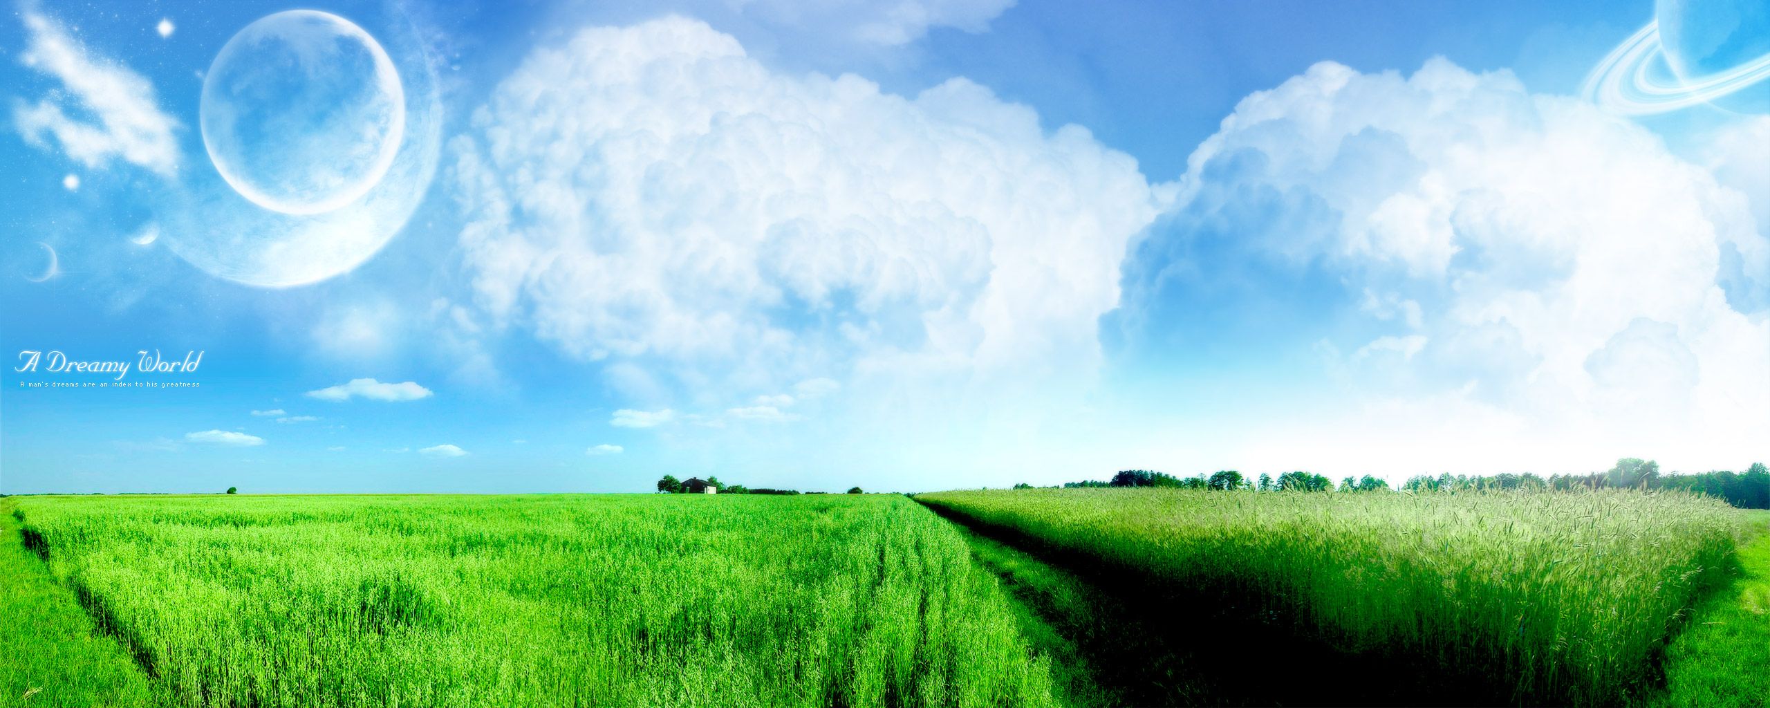
{"label": "smaller round blue planet with white rim, overlapping a larger planet", "polygon": [[405,92],[368,32],[331,12],[264,16],[204,78],[204,147],[253,204],[319,214],[361,198],[393,165]]}

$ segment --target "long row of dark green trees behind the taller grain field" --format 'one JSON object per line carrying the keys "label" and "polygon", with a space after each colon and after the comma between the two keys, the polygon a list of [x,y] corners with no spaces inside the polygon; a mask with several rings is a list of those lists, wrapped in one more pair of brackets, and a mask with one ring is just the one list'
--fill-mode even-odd
{"label": "long row of dark green trees behind the taller grain field", "polygon": [[[1258,478],[1246,478],[1239,471],[1225,469],[1212,474],[1195,474],[1195,476],[1174,476],[1150,469],[1126,469],[1112,476],[1112,480],[1083,480],[1083,481],[1066,481],[1064,489],[1085,489],[1085,487],[1172,487],[1172,489],[1202,489],[1202,490],[1253,490],[1253,492],[1381,492],[1389,490],[1389,483],[1382,478],[1365,474],[1365,476],[1347,476],[1335,485],[1333,480],[1304,471],[1283,473],[1276,478],[1271,474],[1260,474]],[[1028,483],[1014,485],[1014,489],[1034,489]],[[1055,487],[1050,487],[1055,489]],[[1641,458],[1621,458],[1616,466],[1604,473],[1591,474],[1551,474],[1540,476],[1531,473],[1513,474],[1416,474],[1407,478],[1402,485],[1405,492],[1435,492],[1435,490],[1457,490],[1457,489],[1556,489],[1556,490],[1574,490],[1574,489],[1666,489],[1666,490],[1683,490],[1694,494],[1706,494],[1712,497],[1726,499],[1726,503],[1740,508],[1770,508],[1770,469],[1763,462],[1752,464],[1743,473],[1733,471],[1712,471],[1712,473],[1694,473],[1694,474],[1660,474],[1658,462],[1641,460]]]}

